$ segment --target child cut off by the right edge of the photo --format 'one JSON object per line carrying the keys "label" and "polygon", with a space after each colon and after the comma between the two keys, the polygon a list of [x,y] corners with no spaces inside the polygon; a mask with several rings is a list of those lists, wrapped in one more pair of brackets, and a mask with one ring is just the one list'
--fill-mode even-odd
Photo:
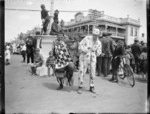
{"label": "child cut off by the right edge of the photo", "polygon": [[147,48],[144,47],[139,57],[140,59],[140,70],[143,79],[147,80]]}

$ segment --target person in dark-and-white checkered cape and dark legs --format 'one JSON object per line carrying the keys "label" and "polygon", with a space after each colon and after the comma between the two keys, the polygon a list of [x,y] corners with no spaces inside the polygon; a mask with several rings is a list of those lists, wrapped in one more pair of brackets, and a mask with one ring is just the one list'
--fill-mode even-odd
{"label": "person in dark-and-white checkered cape and dark legs", "polygon": [[[74,64],[67,45],[62,41],[63,34],[58,33],[57,39],[53,42],[52,51],[55,57],[55,75],[60,84],[58,90],[63,88],[63,79],[68,76],[68,82],[73,76]],[[69,85],[71,85],[69,83]]]}

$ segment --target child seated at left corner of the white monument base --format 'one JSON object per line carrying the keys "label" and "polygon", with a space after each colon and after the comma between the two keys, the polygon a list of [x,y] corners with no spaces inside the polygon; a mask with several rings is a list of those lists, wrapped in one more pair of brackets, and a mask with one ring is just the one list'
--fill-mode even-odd
{"label": "child seated at left corner of the white monument base", "polygon": [[37,75],[36,69],[38,67],[41,67],[43,65],[43,62],[44,62],[44,59],[43,59],[43,56],[40,54],[40,49],[36,48],[35,55],[34,55],[34,63],[31,64],[32,75]]}

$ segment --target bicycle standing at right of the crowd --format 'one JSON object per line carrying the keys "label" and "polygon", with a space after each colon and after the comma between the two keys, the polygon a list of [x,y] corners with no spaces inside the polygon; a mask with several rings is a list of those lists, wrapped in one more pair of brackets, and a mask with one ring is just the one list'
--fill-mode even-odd
{"label": "bicycle standing at right of the crowd", "polygon": [[121,57],[121,63],[119,65],[119,68],[123,71],[122,75],[118,75],[122,80],[127,78],[129,84],[131,87],[135,85],[135,79],[134,79],[134,73],[129,64],[126,62],[126,57]]}

